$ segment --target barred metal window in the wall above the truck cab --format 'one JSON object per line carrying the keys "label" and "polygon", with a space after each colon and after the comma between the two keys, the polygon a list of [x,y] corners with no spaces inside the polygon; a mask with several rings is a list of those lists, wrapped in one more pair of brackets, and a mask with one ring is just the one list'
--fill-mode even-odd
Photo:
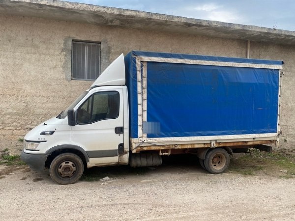
{"label": "barred metal window in the wall above the truck cab", "polygon": [[100,44],[72,42],[72,79],[95,80],[100,74]]}

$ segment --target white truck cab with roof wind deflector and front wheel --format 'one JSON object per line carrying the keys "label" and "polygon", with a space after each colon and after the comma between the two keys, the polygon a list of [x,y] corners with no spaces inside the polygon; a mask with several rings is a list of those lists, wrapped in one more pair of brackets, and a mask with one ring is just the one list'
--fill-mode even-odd
{"label": "white truck cab with roof wind deflector and front wheel", "polygon": [[21,158],[34,170],[50,167],[60,184],[84,167],[128,164],[128,93],[120,55],[65,111],[33,128]]}

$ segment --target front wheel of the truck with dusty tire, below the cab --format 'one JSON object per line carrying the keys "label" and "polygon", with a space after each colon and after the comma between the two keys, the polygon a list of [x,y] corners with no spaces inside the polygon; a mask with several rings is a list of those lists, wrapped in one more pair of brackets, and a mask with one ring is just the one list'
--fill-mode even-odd
{"label": "front wheel of the truck with dusty tire, below the cab", "polygon": [[58,184],[72,184],[77,182],[84,171],[80,157],[72,153],[63,153],[57,156],[50,165],[51,179]]}

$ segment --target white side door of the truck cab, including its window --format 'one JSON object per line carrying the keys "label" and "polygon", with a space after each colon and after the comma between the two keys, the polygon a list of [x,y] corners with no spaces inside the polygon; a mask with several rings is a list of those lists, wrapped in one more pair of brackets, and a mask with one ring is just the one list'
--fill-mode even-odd
{"label": "white side door of the truck cab, including its window", "polygon": [[77,110],[71,143],[84,148],[89,164],[117,164],[123,145],[122,89],[93,93]]}

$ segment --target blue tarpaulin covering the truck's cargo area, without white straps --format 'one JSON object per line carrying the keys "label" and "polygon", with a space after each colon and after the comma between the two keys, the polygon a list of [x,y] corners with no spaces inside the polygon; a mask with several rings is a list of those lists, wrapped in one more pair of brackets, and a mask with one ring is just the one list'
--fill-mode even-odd
{"label": "blue tarpaulin covering the truck's cargo area, without white straps", "polygon": [[[130,137],[138,138],[135,56],[282,65],[282,61],[132,51],[125,56]],[[142,68],[142,67],[141,67]],[[148,138],[276,133],[279,69],[147,62]],[[141,80],[139,80],[141,81]]]}

